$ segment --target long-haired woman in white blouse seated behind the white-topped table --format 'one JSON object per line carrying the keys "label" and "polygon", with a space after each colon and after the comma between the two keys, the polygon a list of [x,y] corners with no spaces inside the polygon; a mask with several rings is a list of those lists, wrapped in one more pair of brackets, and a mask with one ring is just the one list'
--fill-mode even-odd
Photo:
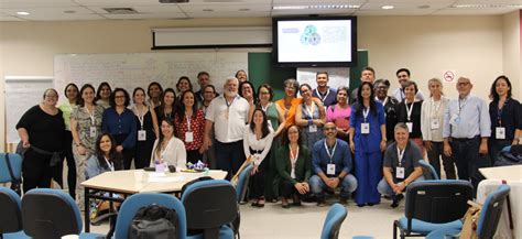
{"label": "long-haired woman in white blouse seated behind the white-topped table", "polygon": [[187,152],[183,141],[174,137],[174,124],[171,120],[163,119],[161,121],[160,139],[156,139],[152,148],[151,166],[154,161],[174,165],[176,172],[186,169]]}

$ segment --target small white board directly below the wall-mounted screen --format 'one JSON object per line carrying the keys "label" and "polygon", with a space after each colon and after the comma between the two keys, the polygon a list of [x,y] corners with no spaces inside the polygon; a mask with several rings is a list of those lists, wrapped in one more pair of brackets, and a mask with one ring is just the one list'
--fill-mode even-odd
{"label": "small white board directly below the wall-mounted screen", "polygon": [[300,85],[306,83],[315,89],[317,88],[316,74],[320,72],[328,73],[328,86],[334,89],[350,86],[350,68],[340,67],[297,68],[297,82]]}

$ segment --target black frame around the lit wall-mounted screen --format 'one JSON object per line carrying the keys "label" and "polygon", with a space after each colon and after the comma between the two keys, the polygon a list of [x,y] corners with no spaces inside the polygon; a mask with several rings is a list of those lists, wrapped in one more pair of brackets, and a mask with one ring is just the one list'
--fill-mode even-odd
{"label": "black frame around the lit wall-mounted screen", "polygon": [[[280,62],[278,25],[281,21],[328,21],[350,20],[351,23],[351,61],[350,62]],[[333,15],[333,17],[278,17],[272,18],[272,61],[278,67],[354,67],[357,66],[357,17]]]}

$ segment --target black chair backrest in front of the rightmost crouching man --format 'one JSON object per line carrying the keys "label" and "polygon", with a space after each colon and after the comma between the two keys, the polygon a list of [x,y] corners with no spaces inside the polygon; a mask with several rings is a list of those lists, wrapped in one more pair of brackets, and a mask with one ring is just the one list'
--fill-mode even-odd
{"label": "black chair backrest in front of the rightmost crouching man", "polygon": [[413,218],[436,224],[463,218],[472,194],[471,183],[467,181],[434,180],[412,183],[406,189],[406,230],[411,229]]}

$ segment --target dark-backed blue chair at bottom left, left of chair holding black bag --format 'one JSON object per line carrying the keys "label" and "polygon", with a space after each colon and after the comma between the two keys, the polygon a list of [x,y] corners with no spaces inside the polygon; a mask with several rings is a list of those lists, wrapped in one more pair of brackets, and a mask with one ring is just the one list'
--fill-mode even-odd
{"label": "dark-backed blue chair at bottom left, left of chair holding black bag", "polygon": [[81,217],[74,199],[61,189],[35,188],[22,198],[22,222],[25,233],[33,238],[55,239],[79,235],[81,239],[105,237],[81,233]]}

